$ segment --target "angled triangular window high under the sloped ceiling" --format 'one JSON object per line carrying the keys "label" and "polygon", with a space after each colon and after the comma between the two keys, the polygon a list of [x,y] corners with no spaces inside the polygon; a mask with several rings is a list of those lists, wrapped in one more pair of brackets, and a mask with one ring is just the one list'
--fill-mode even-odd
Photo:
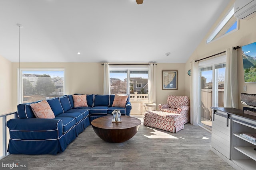
{"label": "angled triangular window high under the sloped ceiling", "polygon": [[218,26],[214,29],[208,37],[206,43],[219,39],[228,33],[238,30],[238,20],[234,17],[234,7],[226,14]]}

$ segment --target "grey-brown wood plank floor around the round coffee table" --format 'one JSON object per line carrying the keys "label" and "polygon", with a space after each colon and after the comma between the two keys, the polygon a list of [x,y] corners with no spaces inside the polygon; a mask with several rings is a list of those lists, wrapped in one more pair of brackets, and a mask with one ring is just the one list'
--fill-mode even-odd
{"label": "grey-brown wood plank floor around the round coffee table", "polygon": [[178,133],[142,123],[138,133],[124,143],[103,141],[90,125],[60,154],[11,154],[2,161],[27,161],[28,169],[33,170],[233,169],[210,150],[210,145],[211,133],[189,123]]}

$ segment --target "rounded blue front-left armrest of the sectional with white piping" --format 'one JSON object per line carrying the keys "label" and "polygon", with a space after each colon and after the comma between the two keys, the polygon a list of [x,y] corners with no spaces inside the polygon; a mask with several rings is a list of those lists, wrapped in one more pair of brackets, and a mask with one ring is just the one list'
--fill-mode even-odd
{"label": "rounded blue front-left armrest of the sectional with white piping", "polygon": [[25,141],[56,140],[62,137],[62,121],[60,119],[10,119],[10,139]]}

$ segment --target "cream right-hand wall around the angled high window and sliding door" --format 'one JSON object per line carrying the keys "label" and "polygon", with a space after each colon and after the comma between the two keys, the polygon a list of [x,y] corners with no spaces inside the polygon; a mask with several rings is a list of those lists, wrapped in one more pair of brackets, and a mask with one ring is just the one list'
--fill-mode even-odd
{"label": "cream right-hand wall around the angled high window and sliding door", "polygon": [[[243,46],[250,43],[254,43],[256,41],[256,16],[249,20],[239,20],[239,30],[222,37],[216,41],[212,41],[211,43],[206,44],[206,39],[212,33],[214,28],[218,25],[220,20],[225,16],[226,12],[231,8],[232,4],[234,4],[234,0],[230,2],[230,4],[226,7],[220,18],[215,22],[212,26],[208,34],[204,37],[200,45],[195,49],[194,53],[191,55],[190,59],[186,62],[185,70],[190,69],[190,61],[192,59],[198,60],[204,57],[208,57],[210,55],[214,55],[216,53],[225,51],[228,47],[236,47]],[[186,76],[186,75],[185,75]],[[185,94],[190,96],[190,78],[185,79]],[[244,105],[240,102],[240,93],[243,92],[243,86],[247,86],[246,93],[256,94],[256,83],[244,83],[244,73],[243,73],[243,62],[242,62],[242,49],[238,50],[238,103],[239,109],[242,109]]]}

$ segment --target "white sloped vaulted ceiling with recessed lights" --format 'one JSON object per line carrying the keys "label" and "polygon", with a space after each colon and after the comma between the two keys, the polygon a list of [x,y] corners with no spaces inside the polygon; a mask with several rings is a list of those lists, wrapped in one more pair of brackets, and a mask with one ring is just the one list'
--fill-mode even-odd
{"label": "white sloped vaulted ceiling with recessed lights", "polygon": [[19,23],[20,62],[185,63],[229,2],[0,0],[0,55],[19,61]]}

